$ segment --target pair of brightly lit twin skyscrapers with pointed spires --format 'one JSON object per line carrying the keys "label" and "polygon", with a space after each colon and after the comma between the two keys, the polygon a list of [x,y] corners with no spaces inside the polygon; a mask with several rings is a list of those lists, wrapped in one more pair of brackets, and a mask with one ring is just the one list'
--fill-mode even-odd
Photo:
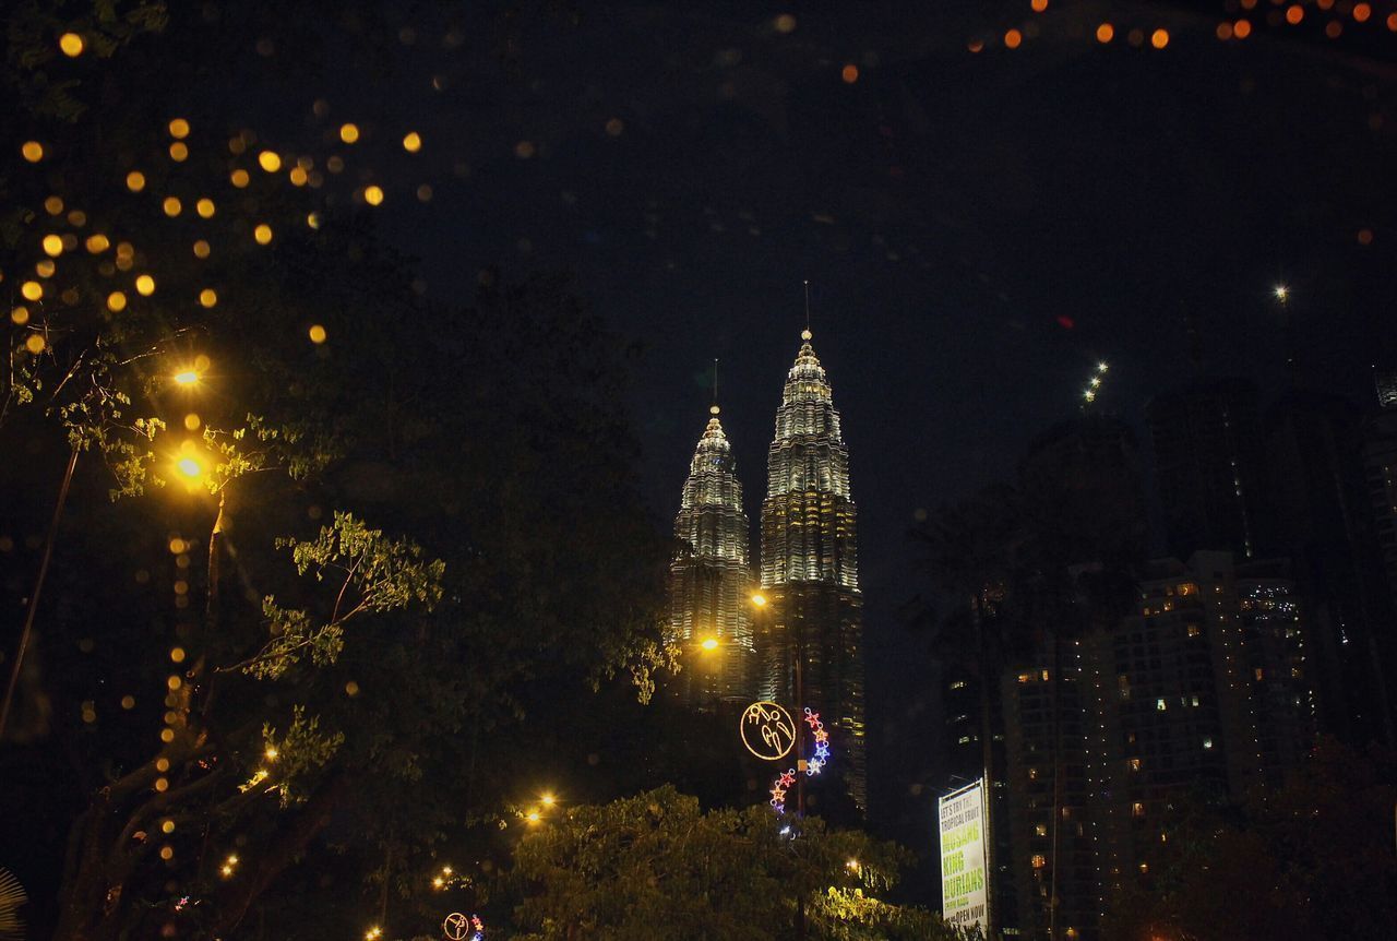
{"label": "pair of brightly lit twin skyscrapers with pointed spires", "polygon": [[680,548],[669,566],[669,625],[683,668],[668,688],[693,709],[771,699],[793,714],[819,712],[834,747],[830,770],[842,772],[863,808],[863,596],[849,452],[810,331],[800,338],[767,452],[756,577],[742,484],[717,404],[698,439],[675,517]]}

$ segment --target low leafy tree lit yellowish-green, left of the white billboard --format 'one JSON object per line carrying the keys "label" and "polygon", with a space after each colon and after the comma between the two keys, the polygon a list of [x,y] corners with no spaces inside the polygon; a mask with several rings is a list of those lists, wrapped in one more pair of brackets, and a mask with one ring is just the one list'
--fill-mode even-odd
{"label": "low leafy tree lit yellowish-green, left of the white billboard", "polygon": [[766,805],[700,811],[661,787],[543,819],[518,842],[515,926],[532,941],[793,937],[958,938],[939,917],[879,900],[905,850]]}

